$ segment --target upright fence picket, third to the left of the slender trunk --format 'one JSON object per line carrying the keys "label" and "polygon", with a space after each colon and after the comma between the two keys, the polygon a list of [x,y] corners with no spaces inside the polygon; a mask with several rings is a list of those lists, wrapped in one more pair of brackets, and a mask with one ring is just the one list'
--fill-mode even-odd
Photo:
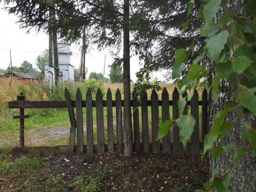
{"label": "upright fence picket, third to the left of the slender trunk", "polygon": [[100,88],[96,93],[96,120],[97,120],[97,144],[98,153],[105,152],[105,139],[104,139],[104,113],[103,113],[103,96]]}

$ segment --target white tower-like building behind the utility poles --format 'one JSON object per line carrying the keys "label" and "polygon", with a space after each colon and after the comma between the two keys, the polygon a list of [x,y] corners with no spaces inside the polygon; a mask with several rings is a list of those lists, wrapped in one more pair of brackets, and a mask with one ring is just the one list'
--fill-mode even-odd
{"label": "white tower-like building behind the utility poles", "polygon": [[[70,55],[70,44],[65,44],[62,42],[58,42],[58,55],[59,55],[59,78],[62,80],[70,80],[74,81],[74,66],[71,65]],[[53,63],[54,66],[54,63]],[[52,81],[55,81],[54,68],[52,70],[53,73]],[[48,78],[49,64],[45,63],[45,78]]]}

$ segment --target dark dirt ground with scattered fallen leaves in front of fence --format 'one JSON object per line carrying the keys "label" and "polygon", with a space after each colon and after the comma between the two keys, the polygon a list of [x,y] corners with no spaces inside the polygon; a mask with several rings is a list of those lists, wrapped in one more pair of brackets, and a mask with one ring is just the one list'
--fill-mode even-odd
{"label": "dark dirt ground with scattered fallen leaves in front of fence", "polygon": [[[15,161],[30,154],[20,151],[10,155]],[[94,190],[84,191],[183,192],[202,189],[209,178],[209,163],[206,160],[201,162],[200,155],[134,152],[132,157],[126,158],[120,153],[74,153],[42,158],[42,165],[35,170],[35,176],[24,172],[20,174],[22,178],[9,179],[8,185],[2,185],[2,190],[17,188],[19,179],[23,179],[26,183],[31,182],[23,186],[25,191],[82,191],[83,181],[85,186],[92,182],[95,185]],[[33,190],[35,180],[40,182],[41,190]]]}

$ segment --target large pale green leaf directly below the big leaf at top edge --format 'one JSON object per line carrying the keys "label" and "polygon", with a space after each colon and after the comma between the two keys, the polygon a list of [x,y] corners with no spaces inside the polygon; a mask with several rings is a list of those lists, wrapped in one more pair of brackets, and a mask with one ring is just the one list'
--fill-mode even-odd
{"label": "large pale green leaf directly below the big leaf at top edge", "polygon": [[209,56],[213,57],[215,61],[219,59],[219,55],[221,54],[227,40],[228,31],[225,30],[211,37],[207,43],[206,48],[208,48],[208,54]]}

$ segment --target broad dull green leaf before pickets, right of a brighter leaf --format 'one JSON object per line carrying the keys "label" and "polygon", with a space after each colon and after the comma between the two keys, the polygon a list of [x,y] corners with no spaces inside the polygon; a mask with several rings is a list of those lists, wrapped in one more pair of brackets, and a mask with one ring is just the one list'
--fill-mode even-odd
{"label": "broad dull green leaf before pickets, right of a brighter leaf", "polygon": [[192,115],[187,114],[187,115],[182,115],[180,118],[176,120],[176,122],[177,122],[177,126],[182,127],[182,131],[180,131],[180,135],[183,139],[183,146],[185,148],[187,144],[187,140],[189,139],[189,137],[191,137],[194,131],[196,120],[195,118],[193,118]]}

